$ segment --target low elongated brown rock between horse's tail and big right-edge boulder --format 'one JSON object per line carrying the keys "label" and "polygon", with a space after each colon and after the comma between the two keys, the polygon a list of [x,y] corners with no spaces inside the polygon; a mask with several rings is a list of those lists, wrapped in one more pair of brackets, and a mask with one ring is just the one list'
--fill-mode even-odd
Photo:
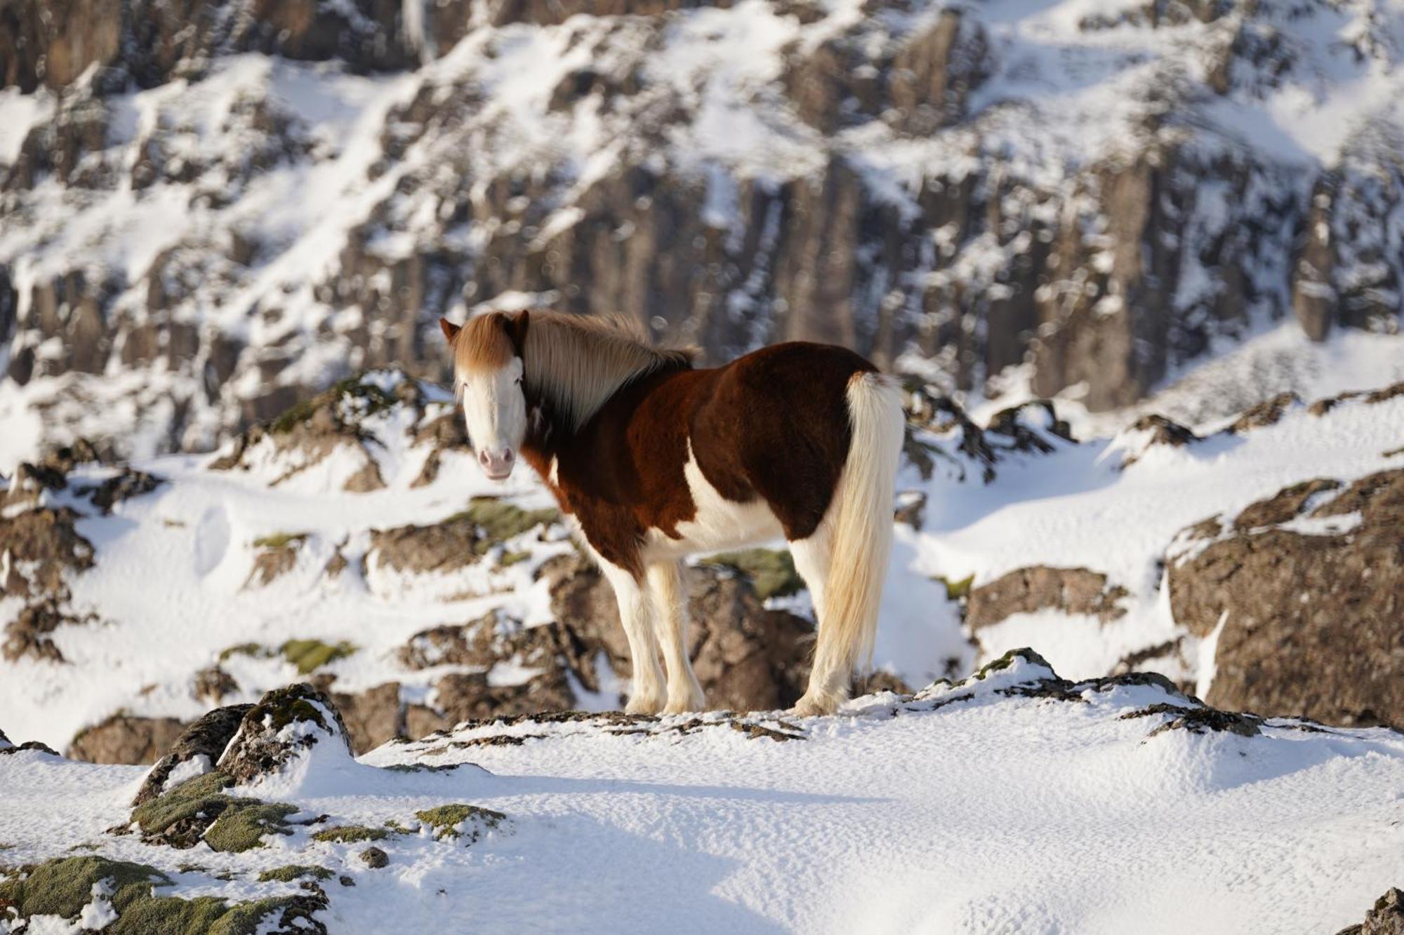
{"label": "low elongated brown rock between horse's tail and big right-edge boulder", "polygon": [[965,622],[972,630],[991,626],[1014,614],[1056,609],[1085,614],[1106,623],[1126,609],[1119,601],[1126,588],[1108,585],[1106,576],[1088,569],[1033,566],[1009,571],[988,584],[972,588]]}

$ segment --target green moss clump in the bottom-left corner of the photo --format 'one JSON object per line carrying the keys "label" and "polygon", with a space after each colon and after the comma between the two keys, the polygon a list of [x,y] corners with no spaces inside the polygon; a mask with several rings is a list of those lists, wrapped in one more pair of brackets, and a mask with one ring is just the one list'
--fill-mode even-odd
{"label": "green moss clump in the bottom-left corner of the photo", "polygon": [[8,903],[22,918],[59,915],[73,918],[93,901],[93,884],[108,880],[108,897],[119,914],[132,903],[149,898],[153,886],[168,886],[170,877],[145,863],[76,856],[45,861],[22,879],[0,883],[0,904]]}

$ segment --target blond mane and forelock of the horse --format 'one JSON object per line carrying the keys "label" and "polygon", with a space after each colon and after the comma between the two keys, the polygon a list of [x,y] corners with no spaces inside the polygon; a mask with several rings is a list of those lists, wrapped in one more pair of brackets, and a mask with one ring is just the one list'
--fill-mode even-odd
{"label": "blond mane and forelock of the horse", "polygon": [[[514,316],[490,312],[469,319],[453,341],[461,372],[496,369],[517,355],[508,324]],[[564,427],[576,431],[619,387],[660,369],[692,365],[692,348],[651,347],[622,316],[531,312],[522,348],[529,396],[546,400]]]}

